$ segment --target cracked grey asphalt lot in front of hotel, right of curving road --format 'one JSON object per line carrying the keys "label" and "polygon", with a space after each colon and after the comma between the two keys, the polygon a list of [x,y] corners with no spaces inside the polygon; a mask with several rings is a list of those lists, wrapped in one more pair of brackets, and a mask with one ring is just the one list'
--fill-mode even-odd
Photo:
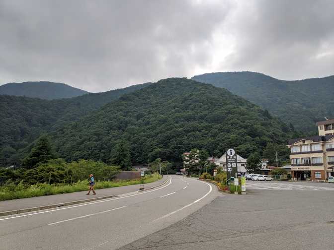
{"label": "cracked grey asphalt lot in front of hotel, right of curving road", "polygon": [[334,250],[334,184],[247,186],[120,250]]}

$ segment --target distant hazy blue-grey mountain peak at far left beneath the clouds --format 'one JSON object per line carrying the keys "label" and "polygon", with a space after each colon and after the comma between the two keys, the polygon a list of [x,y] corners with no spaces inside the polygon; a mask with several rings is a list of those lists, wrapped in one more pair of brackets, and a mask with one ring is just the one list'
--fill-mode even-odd
{"label": "distant hazy blue-grey mountain peak at far left beneath the clouds", "polygon": [[26,96],[46,100],[71,98],[87,94],[79,88],[59,82],[11,82],[0,86],[0,95]]}

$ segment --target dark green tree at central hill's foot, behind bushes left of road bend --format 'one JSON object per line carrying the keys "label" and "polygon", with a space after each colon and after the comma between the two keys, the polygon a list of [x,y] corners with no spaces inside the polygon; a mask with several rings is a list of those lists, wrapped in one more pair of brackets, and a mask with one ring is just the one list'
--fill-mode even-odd
{"label": "dark green tree at central hill's foot, behind bushes left of road bend", "polygon": [[111,163],[120,166],[122,170],[131,170],[131,157],[129,144],[120,140],[112,150]]}

